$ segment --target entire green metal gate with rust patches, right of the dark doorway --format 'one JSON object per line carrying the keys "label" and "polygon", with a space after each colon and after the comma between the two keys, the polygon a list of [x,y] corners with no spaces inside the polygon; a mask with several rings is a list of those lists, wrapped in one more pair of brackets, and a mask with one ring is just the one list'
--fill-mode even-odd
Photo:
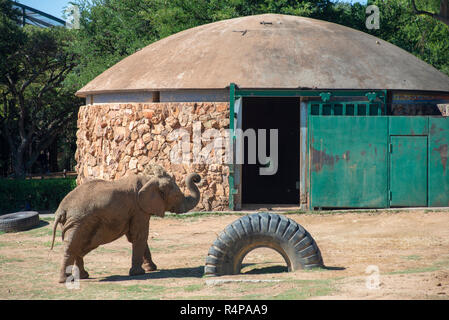
{"label": "entire green metal gate with rust patches, right of the dark doorway", "polygon": [[312,208],[449,206],[449,118],[310,109]]}

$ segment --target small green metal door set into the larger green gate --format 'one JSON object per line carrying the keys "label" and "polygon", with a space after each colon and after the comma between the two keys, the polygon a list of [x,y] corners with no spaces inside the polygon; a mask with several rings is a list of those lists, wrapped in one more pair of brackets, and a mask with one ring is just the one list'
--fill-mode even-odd
{"label": "small green metal door set into the larger green gate", "polygon": [[427,206],[427,136],[390,142],[390,207]]}

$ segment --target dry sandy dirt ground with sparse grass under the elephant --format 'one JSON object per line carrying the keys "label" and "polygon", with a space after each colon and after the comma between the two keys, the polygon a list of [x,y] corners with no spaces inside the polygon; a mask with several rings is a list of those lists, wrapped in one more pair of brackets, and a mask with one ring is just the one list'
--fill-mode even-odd
{"label": "dry sandy dirt ground with sparse grass under the elephant", "polygon": [[242,274],[204,277],[212,242],[234,214],[152,218],[149,245],[159,270],[129,277],[126,238],[85,258],[91,278],[58,284],[60,232],[0,234],[0,299],[449,299],[449,212],[397,210],[288,214],[316,240],[324,269],[286,272],[282,257],[256,249]]}

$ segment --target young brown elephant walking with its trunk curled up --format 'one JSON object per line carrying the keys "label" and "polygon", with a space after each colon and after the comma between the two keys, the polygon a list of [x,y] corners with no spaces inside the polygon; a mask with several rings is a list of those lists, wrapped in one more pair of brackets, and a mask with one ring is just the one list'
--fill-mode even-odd
{"label": "young brown elephant walking with its trunk curled up", "polygon": [[132,244],[129,275],[156,270],[147,243],[150,217],[163,217],[166,211],[185,213],[198,204],[200,192],[196,184],[201,181],[200,175],[191,173],[185,181],[190,192],[187,196],[172,176],[152,164],[143,174],[133,173],[115,181],[90,180],[68,193],[55,212],[51,244],[52,250],[61,224],[64,257],[59,282],[67,280],[74,264],[79,278],[88,278],[84,256],[123,235]]}

